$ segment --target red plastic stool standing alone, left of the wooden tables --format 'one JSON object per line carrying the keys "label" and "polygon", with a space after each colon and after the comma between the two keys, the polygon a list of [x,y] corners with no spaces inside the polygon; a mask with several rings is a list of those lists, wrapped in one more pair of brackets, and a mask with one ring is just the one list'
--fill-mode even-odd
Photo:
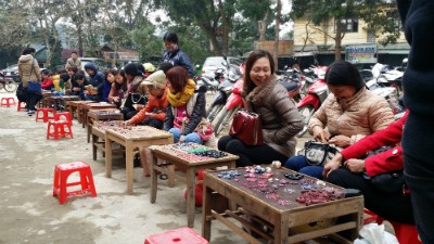
{"label": "red plastic stool standing alone, left of the wooden tables", "polygon": [[[76,182],[67,182],[67,178],[73,172],[79,172],[80,180]],[[81,190],[67,191],[68,187],[80,185]],[[84,162],[73,162],[67,164],[59,164],[54,167],[53,196],[58,196],[59,203],[66,203],[66,198],[72,195],[90,193],[92,197],[97,196],[93,184],[93,176],[90,166]]]}

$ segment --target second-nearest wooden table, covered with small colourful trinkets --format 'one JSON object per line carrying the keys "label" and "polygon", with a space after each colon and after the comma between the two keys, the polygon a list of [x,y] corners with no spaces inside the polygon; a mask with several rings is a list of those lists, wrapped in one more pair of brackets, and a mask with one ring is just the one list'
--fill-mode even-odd
{"label": "second-nearest wooden table, covered with small colourful trinkets", "polygon": [[[196,156],[192,151],[212,150],[204,145],[181,143],[170,144],[161,146],[150,147],[153,155],[153,163],[151,164],[151,203],[155,203],[156,191],[157,191],[157,176],[156,171],[166,172],[169,175],[169,179],[174,176],[177,179],[187,182],[187,222],[189,227],[194,227],[194,208],[195,208],[195,174],[201,169],[216,168],[220,166],[228,166],[229,168],[235,167],[235,160],[239,156],[226,153],[225,157],[213,158]],[[157,158],[167,160],[168,164],[175,165],[182,171],[186,171],[186,176],[177,176],[171,174],[167,168],[162,165],[157,165]]]}

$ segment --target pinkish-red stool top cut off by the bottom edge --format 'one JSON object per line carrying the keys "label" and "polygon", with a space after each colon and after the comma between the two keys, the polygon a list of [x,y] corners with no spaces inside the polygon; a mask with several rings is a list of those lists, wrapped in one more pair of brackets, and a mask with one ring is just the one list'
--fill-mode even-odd
{"label": "pinkish-red stool top cut off by the bottom edge", "polygon": [[208,244],[204,237],[190,228],[179,228],[159,234],[150,235],[144,244]]}

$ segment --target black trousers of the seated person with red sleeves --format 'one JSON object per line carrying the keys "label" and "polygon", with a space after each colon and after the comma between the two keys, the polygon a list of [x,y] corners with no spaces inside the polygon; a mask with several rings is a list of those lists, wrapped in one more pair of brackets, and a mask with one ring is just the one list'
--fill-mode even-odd
{"label": "black trousers of the seated person with red sleeves", "polygon": [[345,168],[333,170],[326,179],[330,183],[347,188],[358,189],[365,197],[365,207],[376,215],[392,221],[414,224],[411,200],[403,192],[384,193],[373,189],[362,175],[353,174]]}

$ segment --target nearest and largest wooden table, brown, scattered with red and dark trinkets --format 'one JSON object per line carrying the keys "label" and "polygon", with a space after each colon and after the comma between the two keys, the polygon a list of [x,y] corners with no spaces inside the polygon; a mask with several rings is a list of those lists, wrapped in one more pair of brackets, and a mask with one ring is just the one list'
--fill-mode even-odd
{"label": "nearest and largest wooden table, brown, scattered with red and dark trinkets", "polygon": [[[256,219],[257,222],[267,226],[267,229],[272,230],[272,234],[266,233],[265,231],[255,232],[275,244],[299,243],[323,235],[328,235],[339,243],[353,243],[352,241],[358,236],[358,230],[362,226],[362,196],[342,198],[342,188],[329,183],[326,185],[318,185],[316,179],[307,176],[301,181],[289,180],[284,178],[284,174],[293,172],[289,169],[272,169],[272,174],[275,174],[272,178],[279,179],[273,182],[257,178],[257,174],[254,174],[256,175],[256,182],[247,182],[245,169],[238,168],[238,170],[240,176],[237,176],[234,179],[220,178],[222,171],[205,172],[202,235],[208,241],[210,240],[212,220],[216,219],[233,232],[242,235],[250,243],[260,244],[261,242],[243,231],[239,226],[234,224],[233,221],[227,219],[232,218],[232,220],[239,221],[245,227],[254,228],[240,215],[251,216],[251,218]],[[280,180],[282,179],[285,179],[289,183],[280,184]],[[264,187],[264,182],[267,187]],[[303,182],[307,182],[307,184],[303,185]],[[276,185],[278,185],[278,190],[276,190]],[[326,188],[329,190],[332,189],[335,193],[333,193],[333,195],[335,195],[336,198],[327,203],[312,204],[309,206],[296,202],[296,197],[299,196],[303,190],[302,188],[305,188],[306,191],[306,185],[323,190]],[[341,194],[339,194],[339,192],[341,192]],[[240,207],[238,209],[227,209],[224,213],[217,213],[214,210],[213,206],[214,195],[222,195]],[[278,195],[278,197],[276,197],[276,195]],[[303,224],[320,220],[330,220],[341,216],[347,216],[347,218],[345,220],[341,218],[340,222],[329,227],[320,227],[321,229],[312,228],[307,231],[305,230],[303,233],[296,232],[295,227],[299,228],[299,226],[303,227]],[[352,241],[335,234],[343,230],[350,231]]]}

